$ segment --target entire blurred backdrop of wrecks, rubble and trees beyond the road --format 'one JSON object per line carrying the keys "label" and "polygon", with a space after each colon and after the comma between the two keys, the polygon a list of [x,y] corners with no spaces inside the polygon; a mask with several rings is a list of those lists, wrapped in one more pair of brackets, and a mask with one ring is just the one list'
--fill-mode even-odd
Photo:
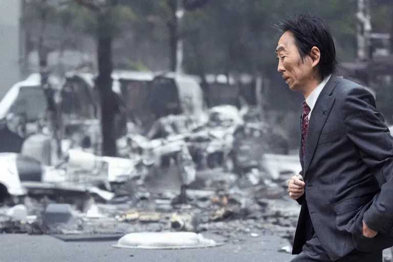
{"label": "entire blurred backdrop of wrecks, rubble and trees beyond the road", "polygon": [[303,98],[275,25],[301,12],[391,127],[391,0],[0,0],[0,232],[67,232],[68,203],[83,232],[292,241]]}

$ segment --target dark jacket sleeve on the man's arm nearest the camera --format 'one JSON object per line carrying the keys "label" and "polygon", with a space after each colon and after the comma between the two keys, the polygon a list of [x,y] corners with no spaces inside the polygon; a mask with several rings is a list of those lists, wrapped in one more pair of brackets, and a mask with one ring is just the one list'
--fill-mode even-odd
{"label": "dark jacket sleeve on the man's arm nearest the camera", "polygon": [[364,223],[375,231],[387,231],[393,221],[393,138],[376,109],[372,94],[363,88],[348,92],[341,104],[348,138],[374,174],[383,174],[381,191],[364,213]]}

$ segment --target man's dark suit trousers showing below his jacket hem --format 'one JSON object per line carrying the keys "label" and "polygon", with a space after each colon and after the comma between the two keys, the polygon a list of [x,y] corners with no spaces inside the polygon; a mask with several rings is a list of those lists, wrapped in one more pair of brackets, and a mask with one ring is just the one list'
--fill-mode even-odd
{"label": "man's dark suit trousers showing below his jacket hem", "polygon": [[[365,253],[357,250],[352,251],[346,256],[336,260],[335,262],[382,262],[382,250]],[[314,233],[313,238],[307,241],[302,249],[291,262],[331,262],[328,254],[323,249],[319,238]]]}

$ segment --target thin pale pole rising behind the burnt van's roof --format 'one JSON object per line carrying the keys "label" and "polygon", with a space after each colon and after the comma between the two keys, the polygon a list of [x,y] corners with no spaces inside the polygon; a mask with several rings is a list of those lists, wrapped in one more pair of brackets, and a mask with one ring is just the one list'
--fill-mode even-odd
{"label": "thin pale pole rising behind the burnt van's roof", "polygon": [[177,0],[177,32],[176,32],[176,74],[180,75],[183,73],[183,55],[184,55],[184,40],[183,40],[183,17],[185,9],[183,0]]}

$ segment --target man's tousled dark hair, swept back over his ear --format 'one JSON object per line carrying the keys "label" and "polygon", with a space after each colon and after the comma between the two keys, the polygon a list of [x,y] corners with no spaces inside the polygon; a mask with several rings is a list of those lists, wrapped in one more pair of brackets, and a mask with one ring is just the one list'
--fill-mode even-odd
{"label": "man's tousled dark hair, swept back over his ear", "polygon": [[281,21],[277,27],[282,33],[289,31],[294,35],[302,61],[310,55],[313,47],[319,49],[321,57],[318,75],[321,80],[335,72],[337,69],[336,48],[330,27],[325,21],[310,14],[295,14]]}

